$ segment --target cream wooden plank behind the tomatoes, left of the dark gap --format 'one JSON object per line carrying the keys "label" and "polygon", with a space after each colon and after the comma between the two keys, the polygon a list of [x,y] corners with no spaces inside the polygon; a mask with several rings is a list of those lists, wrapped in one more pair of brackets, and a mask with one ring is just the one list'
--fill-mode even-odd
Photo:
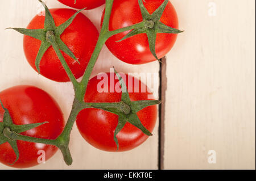
{"label": "cream wooden plank behind the tomatoes, left of the dark gap", "polygon": [[[49,8],[66,7],[58,1],[48,0]],[[24,57],[22,41],[23,36],[18,32],[4,30],[6,27],[26,27],[42,6],[35,0],[10,0],[0,1],[0,13],[4,18],[0,19],[0,39],[2,58],[0,60],[0,90],[15,85],[34,85],[46,90],[61,105],[65,120],[71,111],[74,97],[71,83],[56,83],[38,75],[28,65]],[[100,18],[104,6],[96,10],[84,11],[97,28],[100,29]],[[109,71],[115,67],[118,71],[125,73],[158,73],[159,63],[153,62],[148,65],[133,66],[125,64],[115,58],[109,50],[104,47],[96,63],[93,74]],[[143,82],[146,82],[142,78]],[[159,81],[155,82],[155,97],[158,98]],[[57,152],[46,164],[42,164],[32,169],[158,169],[158,124],[156,125],[154,136],[148,138],[143,145],[137,149],[125,153],[108,153],[100,151],[84,141],[80,136],[76,125],[71,134],[71,153],[73,165],[66,166],[60,151]],[[11,167],[0,165],[1,169],[11,169]]]}

